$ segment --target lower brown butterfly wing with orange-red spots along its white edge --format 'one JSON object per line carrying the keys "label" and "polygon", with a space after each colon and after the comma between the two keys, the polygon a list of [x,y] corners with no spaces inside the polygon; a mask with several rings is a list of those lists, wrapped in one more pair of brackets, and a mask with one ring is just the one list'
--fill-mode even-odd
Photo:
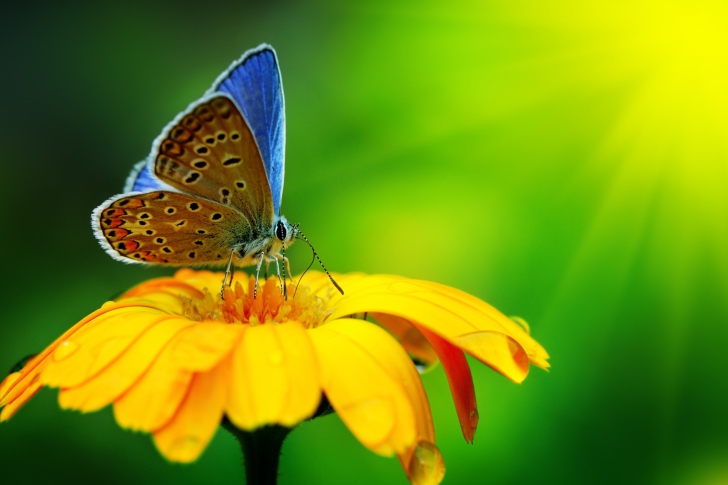
{"label": "lower brown butterfly wing with orange-red spots along its white edge", "polygon": [[232,207],[167,191],[113,197],[91,222],[106,252],[127,263],[224,264],[253,233]]}

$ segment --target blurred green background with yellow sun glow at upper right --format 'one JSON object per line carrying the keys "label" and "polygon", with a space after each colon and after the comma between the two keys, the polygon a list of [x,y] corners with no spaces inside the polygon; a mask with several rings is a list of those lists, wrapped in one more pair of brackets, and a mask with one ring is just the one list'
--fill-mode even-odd
{"label": "blurred green background with yellow sun glow at upper right", "polygon": [[[423,376],[444,483],[728,483],[725,2],[21,2],[0,17],[0,369],[163,270],[89,216],[245,50],[278,51],[283,212],[329,268],[449,284],[551,354],[473,363],[475,444]],[[294,246],[300,272],[310,252]],[[170,465],[109,409],[44,390],[0,425],[3,483],[242,483],[222,429]],[[281,484],[396,483],[335,416]]]}

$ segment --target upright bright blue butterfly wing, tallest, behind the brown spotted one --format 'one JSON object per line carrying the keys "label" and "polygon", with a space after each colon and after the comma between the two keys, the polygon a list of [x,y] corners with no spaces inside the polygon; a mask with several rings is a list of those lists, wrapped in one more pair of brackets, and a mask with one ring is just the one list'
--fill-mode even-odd
{"label": "upright bright blue butterfly wing, tallest, behind the brown spotted one", "polygon": [[223,72],[208,94],[229,94],[248,120],[258,142],[275,214],[280,213],[285,172],[286,119],[283,84],[275,50],[262,44]]}

